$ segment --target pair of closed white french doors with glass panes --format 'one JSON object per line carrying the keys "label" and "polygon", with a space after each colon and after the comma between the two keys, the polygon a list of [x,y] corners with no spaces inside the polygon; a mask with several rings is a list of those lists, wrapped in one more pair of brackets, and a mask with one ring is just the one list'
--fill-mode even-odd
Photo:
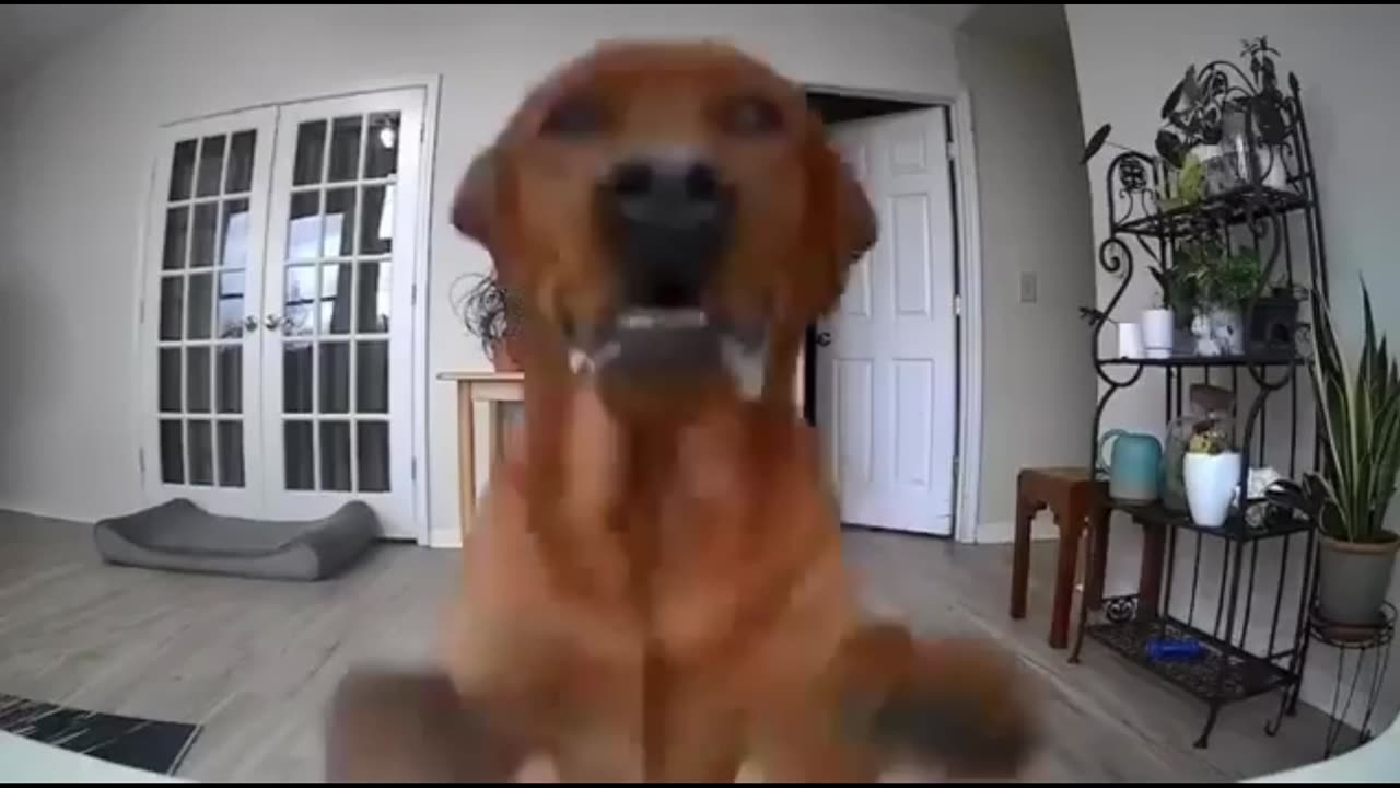
{"label": "pair of closed white french doors with glass panes", "polygon": [[169,130],[143,300],[148,499],[270,519],[363,501],[386,536],[421,537],[410,430],[424,98],[357,94]]}

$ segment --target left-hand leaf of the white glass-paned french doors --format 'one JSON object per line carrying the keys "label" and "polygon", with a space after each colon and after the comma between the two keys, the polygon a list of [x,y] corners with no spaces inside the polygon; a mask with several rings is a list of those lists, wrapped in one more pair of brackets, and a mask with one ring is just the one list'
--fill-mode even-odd
{"label": "left-hand leaf of the white glass-paned french doors", "polygon": [[259,297],[276,109],[162,133],[140,303],[147,501],[256,513]]}

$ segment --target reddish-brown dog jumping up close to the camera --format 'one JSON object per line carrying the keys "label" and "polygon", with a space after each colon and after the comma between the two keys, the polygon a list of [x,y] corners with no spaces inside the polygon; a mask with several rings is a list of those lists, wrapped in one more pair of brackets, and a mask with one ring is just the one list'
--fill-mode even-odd
{"label": "reddish-brown dog jumping up close to the camera", "polygon": [[[441,676],[351,676],[333,778],[1014,777],[1014,660],[862,620],[791,384],[876,240],[802,91],[720,43],[606,43],[531,93],[454,224],[515,299],[525,415]],[[407,740],[407,742],[405,742]]]}

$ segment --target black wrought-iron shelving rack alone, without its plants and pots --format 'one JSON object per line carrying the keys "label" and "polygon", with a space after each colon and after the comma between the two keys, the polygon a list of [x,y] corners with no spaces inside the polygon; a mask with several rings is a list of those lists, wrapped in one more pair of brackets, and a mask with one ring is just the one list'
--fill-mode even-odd
{"label": "black wrought-iron shelving rack alone, without its plants and pots", "polygon": [[[1127,150],[1110,161],[1106,174],[1110,233],[1099,245],[1098,261],[1105,272],[1119,276],[1120,283],[1107,307],[1091,321],[1095,369],[1105,386],[1093,418],[1089,467],[1098,466],[1096,439],[1100,435],[1105,407],[1116,394],[1140,383],[1147,370],[1161,370],[1166,394],[1163,423],[1170,423],[1183,412],[1183,390],[1189,383],[1228,383],[1235,391],[1236,429],[1243,425],[1243,439],[1239,444],[1243,454],[1240,489],[1245,489],[1254,460],[1268,453],[1278,456],[1280,442],[1287,442],[1287,467],[1282,463],[1275,467],[1287,478],[1296,480],[1303,471],[1310,470],[1299,464],[1299,449],[1308,446],[1312,456],[1316,456],[1316,430],[1309,430],[1309,435],[1302,435],[1299,430],[1299,409],[1315,407],[1303,369],[1306,325],[1301,325],[1298,334],[1282,348],[1253,345],[1246,346],[1246,353],[1240,356],[1196,356],[1179,351],[1177,355],[1165,359],[1121,359],[1106,358],[1099,352],[1105,325],[1133,280],[1137,268],[1134,257],[1142,255],[1155,265],[1169,268],[1173,264],[1173,250],[1183,240],[1212,236],[1229,248],[1252,247],[1260,255],[1266,282],[1285,283],[1288,287],[1299,285],[1310,297],[1326,299],[1327,268],[1319,215],[1317,174],[1309,149],[1308,125],[1296,77],[1288,76],[1285,91],[1271,79],[1273,63],[1267,81],[1257,79],[1260,76],[1257,70],[1250,76],[1224,60],[1208,63],[1196,73],[1200,74],[1203,84],[1222,88],[1215,94],[1218,101],[1233,98],[1247,102],[1261,91],[1271,91],[1287,123],[1287,142],[1282,146],[1268,147],[1261,163],[1260,151],[1264,149],[1257,147],[1250,125],[1246,135],[1247,154],[1233,158],[1236,163],[1240,158],[1245,163],[1245,167],[1236,167],[1235,171],[1238,185],[1211,193],[1194,205],[1170,210],[1159,210],[1158,184],[1166,182],[1168,175],[1161,158]],[[1267,167],[1273,165],[1274,157],[1287,170],[1287,178],[1281,184],[1284,188],[1278,188],[1277,179],[1274,186],[1264,185],[1260,174],[1268,171]],[[1246,328],[1250,325],[1253,308],[1252,299],[1243,307]],[[1252,383],[1256,390],[1253,395],[1242,394],[1239,386],[1242,380]],[[1299,391],[1302,386],[1309,386],[1303,397]],[[1268,407],[1278,400],[1284,400],[1284,407],[1288,408],[1288,429],[1278,429],[1275,422],[1270,430]],[[1292,513],[1271,510],[1263,527],[1252,529],[1246,526],[1245,517],[1235,512],[1225,526],[1208,529],[1193,523],[1189,515],[1170,512],[1161,503],[1127,505],[1110,501],[1109,505],[1127,513],[1144,529],[1144,538],[1158,545],[1163,565],[1151,568],[1158,578],[1149,583],[1156,597],[1138,599],[1138,595],[1131,595],[1089,600],[1088,595],[1082,595],[1071,660],[1079,660],[1084,638],[1088,635],[1155,677],[1201,700],[1207,704],[1207,716],[1196,742],[1197,747],[1208,746],[1211,731],[1224,705],[1277,691],[1278,714],[1266,725],[1268,735],[1275,733],[1282,715],[1291,714],[1296,705],[1296,688],[1306,660],[1306,614],[1312,597],[1315,564],[1312,523],[1295,519]],[[1182,566],[1177,566],[1179,540],[1194,540],[1194,559],[1183,561]],[[1205,540],[1218,540],[1224,552],[1219,566],[1214,562],[1203,565],[1207,564],[1201,555]],[[1256,587],[1259,550],[1263,543],[1271,540],[1282,541],[1278,585],[1277,589],[1263,589],[1260,599],[1261,595],[1256,593],[1261,590]],[[1291,550],[1303,551],[1303,578],[1296,595],[1285,595]],[[1186,552],[1190,552],[1189,543]],[[1093,565],[1092,559],[1089,565]],[[1172,590],[1173,582],[1184,582],[1187,575],[1190,593],[1183,610],[1180,604],[1172,606]],[[1161,583],[1162,576],[1165,583]],[[1203,582],[1218,582],[1217,602],[1212,606],[1214,623],[1205,623],[1201,616],[1205,611],[1197,606],[1197,592]],[[1270,596],[1271,604],[1266,604]],[[1270,621],[1267,645],[1250,648],[1250,620],[1266,616]],[[1291,624],[1291,635],[1281,634],[1281,621]],[[1154,637],[1194,638],[1205,646],[1204,656],[1193,660],[1155,660],[1148,656],[1145,648],[1148,639]]]}

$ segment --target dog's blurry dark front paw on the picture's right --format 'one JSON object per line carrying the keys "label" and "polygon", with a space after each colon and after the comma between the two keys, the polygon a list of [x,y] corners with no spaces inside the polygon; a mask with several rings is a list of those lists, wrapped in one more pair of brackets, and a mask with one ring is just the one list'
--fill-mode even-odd
{"label": "dog's blurry dark front paw on the picture's right", "polygon": [[882,760],[960,778],[1019,774],[1036,735],[1012,658],[976,641],[917,642],[895,627],[860,639],[865,674],[851,684],[851,708]]}

